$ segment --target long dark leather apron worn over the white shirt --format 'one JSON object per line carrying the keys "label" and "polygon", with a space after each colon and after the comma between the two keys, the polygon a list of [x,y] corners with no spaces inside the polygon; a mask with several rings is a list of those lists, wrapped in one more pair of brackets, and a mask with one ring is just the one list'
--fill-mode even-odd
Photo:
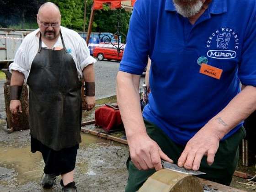
{"label": "long dark leather apron worn over the white shirt", "polygon": [[39,49],[27,79],[30,133],[50,149],[60,150],[81,142],[81,81],[75,61],[63,49]]}

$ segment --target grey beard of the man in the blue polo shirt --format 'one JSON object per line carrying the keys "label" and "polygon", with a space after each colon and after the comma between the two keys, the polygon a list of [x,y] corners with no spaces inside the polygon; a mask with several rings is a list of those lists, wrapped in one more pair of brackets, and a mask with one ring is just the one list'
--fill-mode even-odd
{"label": "grey beard of the man in the blue polo shirt", "polygon": [[[184,2],[185,0],[183,0]],[[193,2],[195,0],[187,0],[187,2]],[[179,5],[178,3],[181,0],[173,0],[174,6],[176,8],[177,13],[179,13],[183,17],[192,17],[195,16],[203,7],[203,2],[201,0],[197,0],[194,5]]]}

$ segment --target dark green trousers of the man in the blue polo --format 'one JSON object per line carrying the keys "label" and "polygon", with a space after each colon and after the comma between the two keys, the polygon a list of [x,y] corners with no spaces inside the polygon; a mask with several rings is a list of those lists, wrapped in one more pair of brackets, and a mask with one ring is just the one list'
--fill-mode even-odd
{"label": "dark green trousers of the man in the blue polo", "polygon": [[[162,151],[168,155],[175,164],[184,150],[185,146],[174,143],[160,128],[152,123],[144,121],[149,137],[160,146]],[[213,165],[207,164],[207,157],[204,156],[199,171],[203,171],[206,175],[199,177],[218,182],[224,185],[230,185],[232,176],[235,172],[239,158],[239,144],[245,137],[245,129],[241,127],[235,134],[228,139],[219,143],[219,149],[215,155]],[[131,161],[130,157],[127,160],[128,169],[128,184],[125,192],[136,192],[143,185],[143,183],[155,173],[155,169],[147,171],[139,171]]]}

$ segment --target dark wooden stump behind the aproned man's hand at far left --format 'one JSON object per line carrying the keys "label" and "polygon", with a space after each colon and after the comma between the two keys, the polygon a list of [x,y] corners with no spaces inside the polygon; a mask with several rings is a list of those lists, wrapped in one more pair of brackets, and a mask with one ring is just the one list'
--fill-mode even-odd
{"label": "dark wooden stump behind the aproned man's hand at far left", "polygon": [[29,129],[29,109],[28,109],[28,90],[27,85],[23,85],[21,92],[21,108],[22,113],[17,115],[11,114],[10,111],[10,85],[5,83],[4,85],[5,93],[5,112],[6,112],[6,121],[7,128],[13,131],[20,131]]}

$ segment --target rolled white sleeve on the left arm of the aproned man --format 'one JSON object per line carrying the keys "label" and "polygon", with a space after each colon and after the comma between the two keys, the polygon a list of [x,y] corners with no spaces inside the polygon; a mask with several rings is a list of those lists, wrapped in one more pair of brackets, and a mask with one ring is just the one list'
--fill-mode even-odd
{"label": "rolled white sleeve on the left arm of the aproned man", "polygon": [[29,69],[30,66],[26,63],[25,54],[20,46],[15,54],[13,63],[9,66],[9,71],[19,71],[24,75],[24,78],[27,79]]}

